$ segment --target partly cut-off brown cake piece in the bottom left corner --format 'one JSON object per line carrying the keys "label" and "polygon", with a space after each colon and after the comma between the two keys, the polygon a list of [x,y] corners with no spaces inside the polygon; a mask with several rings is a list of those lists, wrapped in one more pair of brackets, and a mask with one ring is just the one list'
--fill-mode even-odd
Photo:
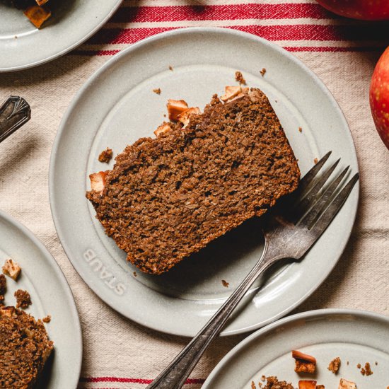
{"label": "partly cut-off brown cake piece in the bottom left corner", "polygon": [[52,349],[41,320],[0,308],[0,388],[33,388]]}

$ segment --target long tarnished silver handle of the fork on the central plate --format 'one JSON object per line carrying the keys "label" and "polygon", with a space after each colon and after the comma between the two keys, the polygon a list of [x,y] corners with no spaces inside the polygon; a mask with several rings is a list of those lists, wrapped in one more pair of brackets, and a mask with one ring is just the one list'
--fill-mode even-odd
{"label": "long tarnished silver handle of the fork on the central plate", "polygon": [[187,344],[187,347],[182,349],[180,354],[173,359],[170,365],[146,389],[180,389],[184,385],[194,366],[197,365],[212,339],[219,335],[223,325],[250,289],[250,286],[272,264],[271,260],[267,260],[267,253],[269,252],[267,248],[265,241],[265,248],[260,260],[243,279],[238,288],[233,291],[233,294],[223,303],[223,306],[219,308],[192,341]]}

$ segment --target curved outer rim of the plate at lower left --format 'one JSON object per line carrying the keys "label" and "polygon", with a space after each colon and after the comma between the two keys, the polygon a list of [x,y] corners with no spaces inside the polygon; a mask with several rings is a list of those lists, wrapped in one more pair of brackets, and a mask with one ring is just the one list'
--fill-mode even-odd
{"label": "curved outer rim of the plate at lower left", "polygon": [[[52,265],[52,269],[54,269],[54,272],[56,276],[59,278],[61,281],[61,285],[64,286],[64,293],[68,296],[69,298],[69,305],[70,305],[70,313],[71,317],[74,321],[75,325],[75,330],[76,330],[76,342],[79,344],[79,353],[78,353],[78,363],[77,365],[79,366],[79,369],[77,371],[76,375],[76,380],[74,382],[74,388],[77,387],[79,384],[79,379],[81,376],[81,368],[82,368],[82,357],[83,357],[83,340],[82,340],[82,330],[81,330],[81,322],[80,322],[80,317],[79,317],[79,311],[77,310],[76,307],[76,301],[74,301],[74,296],[71,291],[69,282],[67,281],[64,272],[62,272],[61,267],[59,267],[58,263],[56,260],[54,260],[54,257],[50,253],[50,251],[47,249],[47,247],[42,243],[42,241],[35,236],[33,231],[30,231],[29,228],[27,228],[21,221],[18,221],[15,219],[13,216],[10,216],[6,214],[6,212],[0,210],[0,219],[5,220],[8,223],[11,223],[15,228],[17,228],[21,233],[23,233],[25,236],[27,236],[28,239],[31,240],[31,242],[37,246],[38,250],[42,252],[42,255],[45,257],[45,259],[50,262]],[[55,344],[54,344],[55,348]]]}

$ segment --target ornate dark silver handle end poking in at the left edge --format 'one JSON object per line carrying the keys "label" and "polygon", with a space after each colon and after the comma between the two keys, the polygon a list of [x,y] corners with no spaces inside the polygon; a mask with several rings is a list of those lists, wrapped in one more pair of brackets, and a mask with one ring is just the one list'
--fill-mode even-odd
{"label": "ornate dark silver handle end poking in at the left edge", "polygon": [[0,106],[0,142],[4,141],[31,117],[31,108],[24,98],[9,96]]}

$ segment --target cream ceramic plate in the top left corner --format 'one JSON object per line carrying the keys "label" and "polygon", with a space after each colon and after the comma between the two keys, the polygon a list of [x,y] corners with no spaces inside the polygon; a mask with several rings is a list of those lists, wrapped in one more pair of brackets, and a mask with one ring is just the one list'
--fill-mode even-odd
{"label": "cream ceramic plate in the top left corner", "polygon": [[0,72],[51,61],[91,37],[122,0],[51,0],[52,17],[40,30],[23,11],[0,1]]}

